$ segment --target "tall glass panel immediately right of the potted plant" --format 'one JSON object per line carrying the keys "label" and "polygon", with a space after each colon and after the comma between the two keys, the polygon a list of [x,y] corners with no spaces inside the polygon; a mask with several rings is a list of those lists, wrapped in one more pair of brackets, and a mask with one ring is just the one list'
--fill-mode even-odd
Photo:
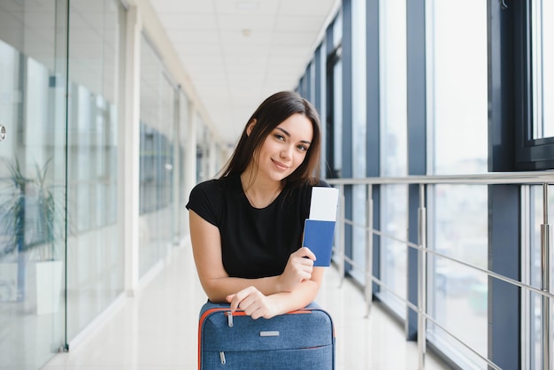
{"label": "tall glass panel immediately right of the potted plant", "polygon": [[125,11],[72,0],[67,127],[67,335],[123,291],[117,210],[119,84]]}

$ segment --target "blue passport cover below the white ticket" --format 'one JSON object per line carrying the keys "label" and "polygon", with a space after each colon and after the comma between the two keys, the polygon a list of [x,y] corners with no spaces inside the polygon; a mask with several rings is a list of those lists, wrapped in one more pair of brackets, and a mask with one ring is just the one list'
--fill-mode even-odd
{"label": "blue passport cover below the white ticket", "polygon": [[315,254],[313,266],[331,266],[334,237],[335,221],[305,220],[302,246]]}

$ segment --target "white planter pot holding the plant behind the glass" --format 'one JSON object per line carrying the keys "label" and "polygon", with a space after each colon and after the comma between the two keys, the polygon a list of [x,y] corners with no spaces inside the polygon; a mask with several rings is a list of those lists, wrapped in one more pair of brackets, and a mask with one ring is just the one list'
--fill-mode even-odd
{"label": "white planter pot holding the plant behind the glass", "polygon": [[62,261],[36,263],[36,314],[58,312],[62,293]]}

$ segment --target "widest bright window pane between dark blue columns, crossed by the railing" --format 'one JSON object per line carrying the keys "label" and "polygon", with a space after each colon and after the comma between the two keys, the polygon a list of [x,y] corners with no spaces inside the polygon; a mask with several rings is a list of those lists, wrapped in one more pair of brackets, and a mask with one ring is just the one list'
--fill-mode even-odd
{"label": "widest bright window pane between dark blue columns, crossed by the railing", "polygon": [[[429,174],[486,173],[487,4],[479,0],[462,8],[454,4],[427,2],[427,168]],[[429,248],[487,268],[487,194],[487,186],[430,187]],[[429,312],[442,328],[486,358],[487,276],[435,256],[429,266]],[[442,351],[463,351],[437,326],[429,324],[428,332],[429,340]],[[465,352],[472,361],[471,353]]]}

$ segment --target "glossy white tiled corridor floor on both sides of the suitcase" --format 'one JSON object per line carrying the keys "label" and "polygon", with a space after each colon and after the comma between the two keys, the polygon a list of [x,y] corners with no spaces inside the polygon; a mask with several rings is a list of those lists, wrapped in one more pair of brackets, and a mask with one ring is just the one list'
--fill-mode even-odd
{"label": "glossy white tiled corridor floor on both sides of the suitcase", "polygon": [[[43,370],[196,369],[198,310],[205,296],[189,247],[173,251],[170,262],[141,290]],[[336,368],[418,369],[417,344],[377,304],[365,318],[360,291],[334,267],[317,299],[331,313],[336,332]],[[427,353],[425,368],[444,369]]]}

